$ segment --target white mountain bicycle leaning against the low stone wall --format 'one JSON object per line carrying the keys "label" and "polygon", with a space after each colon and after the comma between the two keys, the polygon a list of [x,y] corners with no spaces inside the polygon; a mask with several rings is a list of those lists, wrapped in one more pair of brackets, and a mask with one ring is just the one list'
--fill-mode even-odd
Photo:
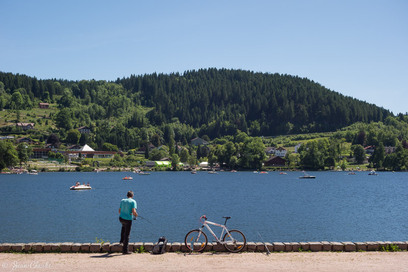
{"label": "white mountain bicycle leaning against the low stone wall", "polygon": [[[207,221],[206,215],[201,216],[199,221],[202,223],[202,227],[198,230],[189,231],[186,235],[186,238],[184,238],[184,243],[186,244],[187,248],[193,252],[203,252],[206,249],[208,243],[207,235],[202,231],[204,226],[206,226],[207,229],[215,238],[213,242],[216,242],[217,244],[223,244],[224,248],[229,252],[237,253],[242,251],[245,248],[246,244],[245,235],[239,230],[228,230],[228,228],[225,226],[226,220],[230,219],[231,216],[222,217],[225,218],[224,225],[219,225]],[[202,221],[202,219],[204,219],[204,221]],[[221,227],[222,232],[220,237],[222,237],[225,231],[225,235],[222,238],[222,240],[219,239],[217,235],[214,234],[214,232],[208,225]]]}

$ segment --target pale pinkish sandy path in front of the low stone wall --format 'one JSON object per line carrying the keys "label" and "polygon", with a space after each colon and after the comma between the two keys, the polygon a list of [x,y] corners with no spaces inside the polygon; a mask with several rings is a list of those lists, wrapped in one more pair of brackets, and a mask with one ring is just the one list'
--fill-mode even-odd
{"label": "pale pinkish sandy path in front of the low stone wall", "polygon": [[408,252],[0,254],[1,271],[408,271]]}

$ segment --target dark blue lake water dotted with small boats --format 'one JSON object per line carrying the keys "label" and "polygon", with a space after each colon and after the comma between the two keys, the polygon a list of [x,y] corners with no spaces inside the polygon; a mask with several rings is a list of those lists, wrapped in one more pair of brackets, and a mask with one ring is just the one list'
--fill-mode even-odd
{"label": "dark blue lake water dotted with small boats", "polygon": [[[0,243],[118,242],[119,203],[128,190],[152,223],[134,221],[131,242],[183,242],[203,214],[219,224],[231,216],[227,226],[247,241],[261,241],[257,232],[267,242],[408,240],[408,172],[309,174],[316,179],[298,179],[300,172],[0,175]],[[77,181],[92,190],[69,190]]]}

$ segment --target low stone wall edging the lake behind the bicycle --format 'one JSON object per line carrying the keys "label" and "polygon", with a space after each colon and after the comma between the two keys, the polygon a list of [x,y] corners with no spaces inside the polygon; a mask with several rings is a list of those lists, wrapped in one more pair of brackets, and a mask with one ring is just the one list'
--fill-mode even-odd
{"label": "low stone wall edging the lake behind the bicycle", "polygon": [[[380,246],[398,245],[400,250],[407,250],[408,241],[405,242],[247,242],[243,251],[266,252],[265,245],[270,252],[297,252],[297,251],[332,251],[332,252],[354,252],[354,251],[377,251]],[[143,245],[144,250],[149,252],[153,249],[152,242],[129,243],[129,250],[136,251]],[[382,248],[382,247],[381,247]],[[122,245],[119,243],[0,243],[0,252],[121,252]],[[206,251],[224,252],[224,246],[216,243],[208,243]],[[184,243],[167,243],[166,252],[188,252]]]}

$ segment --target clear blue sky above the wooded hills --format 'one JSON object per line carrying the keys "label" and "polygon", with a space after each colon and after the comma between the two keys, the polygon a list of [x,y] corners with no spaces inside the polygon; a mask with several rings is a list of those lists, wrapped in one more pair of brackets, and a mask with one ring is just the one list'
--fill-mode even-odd
{"label": "clear blue sky above the wooded hills", "polygon": [[234,68],[408,111],[408,1],[0,1],[0,70],[39,79]]}

